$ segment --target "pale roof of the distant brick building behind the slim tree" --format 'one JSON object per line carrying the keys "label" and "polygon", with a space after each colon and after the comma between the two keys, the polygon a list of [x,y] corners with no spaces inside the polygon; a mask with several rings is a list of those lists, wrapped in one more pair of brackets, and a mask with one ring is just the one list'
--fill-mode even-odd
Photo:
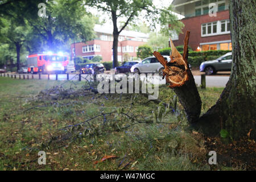
{"label": "pale roof of the distant brick building behind the slim tree", "polygon": [[[94,31],[104,33],[104,34],[113,34],[113,27],[110,26],[101,26],[100,24],[95,24]],[[136,32],[136,31],[127,31],[123,30],[119,34],[121,36],[129,36],[132,38],[148,38],[148,34],[144,34],[142,32]]]}

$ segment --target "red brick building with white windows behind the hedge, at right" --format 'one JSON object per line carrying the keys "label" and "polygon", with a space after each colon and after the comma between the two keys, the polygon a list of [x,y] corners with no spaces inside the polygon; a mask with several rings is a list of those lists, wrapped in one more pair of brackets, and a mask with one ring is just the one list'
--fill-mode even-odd
{"label": "red brick building with white windows behind the hedge, at right", "polygon": [[[209,3],[215,3],[217,16],[209,16]],[[183,34],[176,36],[174,45],[183,44],[190,31],[189,46],[193,51],[232,50],[228,0],[174,0],[174,11],[184,16]],[[210,6],[212,9],[212,6]]]}

